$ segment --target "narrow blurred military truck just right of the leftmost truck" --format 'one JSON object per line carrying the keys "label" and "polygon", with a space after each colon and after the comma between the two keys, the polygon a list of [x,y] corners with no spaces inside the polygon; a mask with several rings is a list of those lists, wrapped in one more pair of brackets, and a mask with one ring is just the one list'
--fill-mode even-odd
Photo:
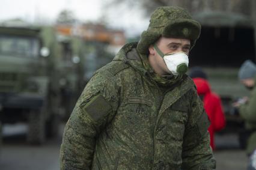
{"label": "narrow blurred military truck just right of the leftmost truck", "polygon": [[66,121],[85,87],[84,59],[85,42],[81,37],[62,35],[58,33],[58,44],[61,47],[61,57],[58,59],[59,83],[61,88],[61,118]]}

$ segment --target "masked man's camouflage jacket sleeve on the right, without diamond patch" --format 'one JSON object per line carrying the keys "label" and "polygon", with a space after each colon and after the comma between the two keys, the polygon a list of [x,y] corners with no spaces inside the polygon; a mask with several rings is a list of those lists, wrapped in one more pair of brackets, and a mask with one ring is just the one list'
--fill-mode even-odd
{"label": "masked man's camouflage jacket sleeve on the right, without diamond patch", "polygon": [[216,161],[210,147],[209,118],[195,89],[190,93],[190,111],[183,137],[182,168],[215,169]]}

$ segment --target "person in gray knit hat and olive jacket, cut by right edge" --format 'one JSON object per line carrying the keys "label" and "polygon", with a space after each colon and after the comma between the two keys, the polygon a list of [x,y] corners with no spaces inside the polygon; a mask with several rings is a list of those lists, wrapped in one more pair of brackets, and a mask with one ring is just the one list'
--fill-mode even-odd
{"label": "person in gray knit hat and olive jacket, cut by right edge", "polygon": [[[239,114],[245,120],[246,128],[246,153],[250,156],[248,170],[256,169],[256,65],[251,60],[246,60],[240,67],[238,77],[241,83],[251,91],[251,95],[243,97],[240,102],[234,103],[239,109]],[[241,102],[242,101],[242,102]]]}

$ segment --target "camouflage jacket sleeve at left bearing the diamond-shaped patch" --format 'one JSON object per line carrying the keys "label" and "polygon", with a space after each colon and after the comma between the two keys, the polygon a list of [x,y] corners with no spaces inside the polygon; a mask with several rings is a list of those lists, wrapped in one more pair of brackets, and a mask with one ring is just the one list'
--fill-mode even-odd
{"label": "camouflage jacket sleeve at left bearing the diamond-shaped patch", "polygon": [[61,169],[90,169],[97,136],[118,106],[114,80],[96,74],[67,121],[60,150]]}

